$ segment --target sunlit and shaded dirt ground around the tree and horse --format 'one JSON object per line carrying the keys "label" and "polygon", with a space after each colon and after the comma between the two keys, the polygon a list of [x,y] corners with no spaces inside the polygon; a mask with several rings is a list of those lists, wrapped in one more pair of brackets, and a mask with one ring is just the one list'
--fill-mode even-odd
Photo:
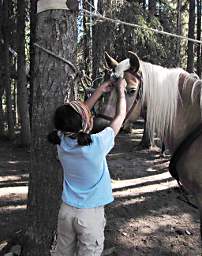
{"label": "sunlit and shaded dirt ground around the tree and horse", "polygon": [[[106,207],[105,255],[199,256],[199,214],[168,173],[169,156],[139,150],[141,126],[121,133],[108,156],[114,202]],[[29,153],[0,142],[0,251],[23,227]],[[194,203],[191,195],[189,200]]]}

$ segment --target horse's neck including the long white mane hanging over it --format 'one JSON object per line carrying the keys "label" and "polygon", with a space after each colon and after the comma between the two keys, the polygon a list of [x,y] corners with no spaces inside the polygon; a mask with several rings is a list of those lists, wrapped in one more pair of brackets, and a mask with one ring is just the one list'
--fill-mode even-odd
{"label": "horse's neck including the long white mane hanging over it", "polygon": [[149,136],[153,139],[156,133],[175,150],[201,122],[202,81],[179,68],[142,62],[141,69]]}

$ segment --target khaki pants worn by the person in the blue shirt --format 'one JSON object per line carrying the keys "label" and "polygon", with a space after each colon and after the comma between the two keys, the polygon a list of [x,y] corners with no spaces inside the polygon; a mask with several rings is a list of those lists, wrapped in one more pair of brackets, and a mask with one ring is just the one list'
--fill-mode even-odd
{"label": "khaki pants worn by the person in the blue shirt", "polygon": [[62,203],[52,256],[100,256],[105,222],[104,207],[79,209]]}

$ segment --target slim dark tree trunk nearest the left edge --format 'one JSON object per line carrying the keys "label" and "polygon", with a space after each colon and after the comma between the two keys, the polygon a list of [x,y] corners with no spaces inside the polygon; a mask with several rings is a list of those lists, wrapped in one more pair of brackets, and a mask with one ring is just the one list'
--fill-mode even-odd
{"label": "slim dark tree trunk nearest the left edge", "polygon": [[14,138],[14,122],[12,112],[11,98],[11,81],[10,81],[10,61],[9,61],[9,38],[10,38],[10,21],[9,21],[9,2],[3,1],[3,62],[4,62],[4,86],[6,90],[6,111],[8,122],[8,137],[10,140]]}

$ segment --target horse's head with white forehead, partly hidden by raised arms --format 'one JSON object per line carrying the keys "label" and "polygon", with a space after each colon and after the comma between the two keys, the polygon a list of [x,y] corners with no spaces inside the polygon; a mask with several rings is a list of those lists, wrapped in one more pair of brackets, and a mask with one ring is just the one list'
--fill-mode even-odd
{"label": "horse's head with white forehead, partly hidden by raised arms", "polygon": [[[129,122],[135,121],[141,112],[141,84],[140,60],[133,52],[128,53],[128,58],[117,62],[108,53],[105,53],[105,60],[108,66],[111,79],[122,77],[126,80],[126,102],[127,115],[124,122],[126,126]],[[98,102],[96,115],[94,118],[94,130],[104,129],[113,120],[116,114],[117,90],[116,87],[104,95]]]}

